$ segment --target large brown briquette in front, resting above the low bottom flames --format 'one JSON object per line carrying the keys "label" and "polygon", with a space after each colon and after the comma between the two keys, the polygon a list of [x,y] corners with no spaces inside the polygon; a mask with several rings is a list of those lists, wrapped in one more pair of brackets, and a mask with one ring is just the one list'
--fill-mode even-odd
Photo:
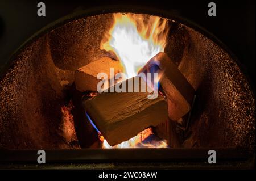
{"label": "large brown briquette in front, resting above the low bottom flames", "polygon": [[[146,85],[141,77],[135,78],[139,80],[139,87],[142,83]],[[135,78],[131,78],[133,88]],[[122,82],[126,84],[126,90],[128,82],[129,79]],[[117,83],[116,86],[120,85]],[[151,90],[150,87],[147,89]],[[109,145],[117,145],[168,119],[166,100],[162,96],[148,99],[148,94],[147,90],[142,92],[141,89],[139,92],[102,92],[85,101],[85,110]]]}

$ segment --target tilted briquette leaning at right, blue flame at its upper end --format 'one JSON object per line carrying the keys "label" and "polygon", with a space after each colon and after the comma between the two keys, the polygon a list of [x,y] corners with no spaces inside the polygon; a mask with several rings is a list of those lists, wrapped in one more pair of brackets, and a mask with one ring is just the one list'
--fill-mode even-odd
{"label": "tilted briquette leaning at right, blue flame at its upper end", "polygon": [[168,100],[169,117],[179,120],[191,109],[195,90],[166,53],[156,54],[140,72],[155,71],[154,66],[159,69],[159,82]]}

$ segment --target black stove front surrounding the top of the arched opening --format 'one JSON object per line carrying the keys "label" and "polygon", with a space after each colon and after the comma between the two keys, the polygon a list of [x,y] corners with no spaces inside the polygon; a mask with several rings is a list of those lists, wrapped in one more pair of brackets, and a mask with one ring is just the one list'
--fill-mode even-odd
{"label": "black stove front surrounding the top of the arched opening", "polygon": [[[37,16],[38,2],[46,3],[46,16]],[[215,2],[217,16],[208,16],[208,3]],[[28,37],[40,28],[79,9],[102,5],[155,7],[172,10],[218,37],[242,63],[255,83],[255,1],[4,1],[0,0],[0,69]]]}

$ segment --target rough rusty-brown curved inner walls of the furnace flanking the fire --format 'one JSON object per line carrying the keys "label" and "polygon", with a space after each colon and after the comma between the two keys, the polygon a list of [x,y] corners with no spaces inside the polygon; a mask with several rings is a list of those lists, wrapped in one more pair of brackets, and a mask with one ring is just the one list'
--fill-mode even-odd
{"label": "rough rusty-brown curved inner walls of the furnace flanking the fire", "polygon": [[[80,148],[73,123],[63,119],[61,107],[79,94],[72,90],[74,71],[108,56],[100,42],[112,23],[112,14],[74,20],[37,37],[12,57],[14,63],[0,82],[1,148]],[[193,28],[174,20],[168,24],[164,52],[197,95],[181,146],[253,149],[254,95],[233,56]],[[85,127],[85,144],[97,147],[92,125]]]}

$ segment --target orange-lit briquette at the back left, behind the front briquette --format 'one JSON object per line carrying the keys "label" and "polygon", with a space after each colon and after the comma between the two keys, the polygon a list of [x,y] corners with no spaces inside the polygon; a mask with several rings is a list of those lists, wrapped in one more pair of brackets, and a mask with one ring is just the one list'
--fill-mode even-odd
{"label": "orange-lit briquette at the back left, behind the front briquette", "polygon": [[114,68],[114,74],[123,71],[121,62],[112,60],[109,57],[102,57],[90,64],[83,66],[75,71],[76,89],[84,91],[97,91],[98,73],[106,73],[110,79],[110,68]]}

